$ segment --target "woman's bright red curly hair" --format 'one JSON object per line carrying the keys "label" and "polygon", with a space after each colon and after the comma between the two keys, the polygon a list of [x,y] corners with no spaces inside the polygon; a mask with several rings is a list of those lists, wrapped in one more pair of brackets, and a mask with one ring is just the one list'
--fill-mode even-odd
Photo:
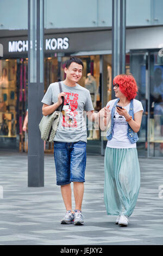
{"label": "woman's bright red curly hair", "polygon": [[135,78],[132,75],[117,75],[113,80],[113,84],[115,83],[119,84],[121,92],[128,100],[135,99],[138,88]]}

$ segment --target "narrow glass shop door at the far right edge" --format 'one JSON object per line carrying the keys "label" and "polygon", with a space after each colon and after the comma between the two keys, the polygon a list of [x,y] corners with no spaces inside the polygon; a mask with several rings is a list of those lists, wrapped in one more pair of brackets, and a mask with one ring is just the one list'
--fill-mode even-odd
{"label": "narrow glass shop door at the far right edge", "polygon": [[150,95],[148,156],[163,156],[163,58],[159,50],[149,53]]}

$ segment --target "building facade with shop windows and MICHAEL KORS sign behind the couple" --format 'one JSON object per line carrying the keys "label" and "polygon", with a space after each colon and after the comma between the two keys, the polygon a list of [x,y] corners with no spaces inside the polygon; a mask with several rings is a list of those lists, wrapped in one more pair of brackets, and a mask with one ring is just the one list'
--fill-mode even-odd
{"label": "building facade with shop windows and MICHAEL KORS sign behind the couple", "polygon": [[[52,82],[64,80],[65,61],[70,56],[78,56],[84,63],[80,85],[90,89],[93,106],[99,111],[113,97],[112,1],[82,1],[82,5],[80,1],[69,1],[69,4],[60,1],[57,6],[53,2],[45,1],[45,92]],[[134,75],[139,87],[137,99],[145,110],[137,142],[140,156],[163,156],[161,2],[145,0],[142,5],[142,1],[127,1],[126,73]],[[23,4],[22,13],[27,14],[27,1]],[[74,13],[75,4],[77,13]],[[134,15],[136,12],[138,17]],[[11,23],[5,27],[4,22],[0,31],[0,43],[3,45],[3,57],[0,59],[0,148],[23,151],[26,150],[22,124],[28,108],[29,45],[24,19],[22,27],[16,22],[11,30]],[[14,26],[20,29],[14,30]],[[105,134],[96,124],[93,130],[87,128],[88,153],[103,155]],[[50,143],[46,144],[46,150],[51,151],[52,148]]]}

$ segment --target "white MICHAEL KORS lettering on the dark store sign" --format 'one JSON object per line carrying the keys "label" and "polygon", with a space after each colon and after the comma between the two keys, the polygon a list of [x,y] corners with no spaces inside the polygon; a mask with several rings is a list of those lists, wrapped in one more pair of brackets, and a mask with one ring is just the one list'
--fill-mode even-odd
{"label": "white MICHAEL KORS lettering on the dark store sign", "polygon": [[[46,39],[46,50],[66,50],[69,47],[68,38]],[[32,48],[32,42],[30,43]],[[25,52],[28,51],[28,40],[9,41],[9,52]]]}

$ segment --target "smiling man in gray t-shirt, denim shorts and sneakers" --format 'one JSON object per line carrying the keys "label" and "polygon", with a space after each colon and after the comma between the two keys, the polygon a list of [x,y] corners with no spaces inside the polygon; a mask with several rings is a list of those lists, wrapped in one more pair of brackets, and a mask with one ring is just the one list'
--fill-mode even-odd
{"label": "smiling man in gray t-shirt, denim shorts and sneakers", "polygon": [[[62,93],[59,91],[58,83],[52,83],[42,99],[42,113],[43,115],[49,115],[60,107],[62,96],[64,96],[63,109],[65,110],[62,111],[64,114],[61,114],[58,130],[54,137],[57,185],[61,186],[61,194],[66,207],[66,214],[61,220],[61,224],[82,225],[84,223],[82,200],[85,182],[87,132],[83,111],[86,111],[91,121],[99,118],[99,113],[93,113],[89,90],[78,84],[82,77],[82,71],[82,60],[79,58],[67,60],[65,66],[66,79],[61,82]],[[72,210],[71,182],[73,182],[76,204],[74,212]]]}

